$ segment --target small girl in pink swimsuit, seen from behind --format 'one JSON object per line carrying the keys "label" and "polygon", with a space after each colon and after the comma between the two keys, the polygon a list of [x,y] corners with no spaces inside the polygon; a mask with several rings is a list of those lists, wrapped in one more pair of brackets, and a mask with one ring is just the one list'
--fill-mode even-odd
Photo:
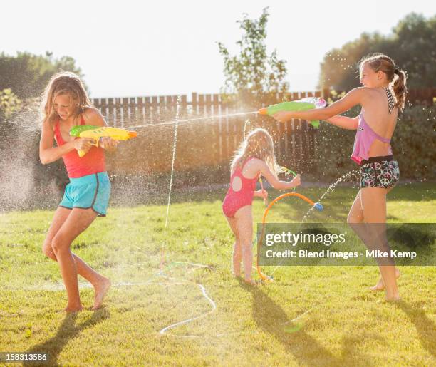
{"label": "small girl in pink swimsuit, seen from behind", "polygon": [[233,274],[240,276],[241,262],[244,261],[244,276],[251,280],[253,253],[253,216],[251,202],[253,197],[266,200],[266,190],[256,191],[256,182],[263,175],[272,187],[279,190],[291,189],[300,185],[297,175],[291,182],[277,179],[278,166],[274,156],[274,143],[268,131],[258,128],[251,131],[237,150],[231,165],[230,187],[222,203],[222,211],[229,222],[235,237],[233,247]]}

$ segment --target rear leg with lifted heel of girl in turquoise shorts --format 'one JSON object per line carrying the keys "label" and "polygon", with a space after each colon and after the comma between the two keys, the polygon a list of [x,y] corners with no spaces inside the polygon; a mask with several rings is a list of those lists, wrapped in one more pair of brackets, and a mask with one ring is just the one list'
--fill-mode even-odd
{"label": "rear leg with lifted heel of girl in turquoise shorts", "polygon": [[[53,237],[56,236],[58,230],[62,227],[63,223],[68,218],[68,215],[71,214],[71,209],[66,209],[64,207],[58,207],[56,210],[53,220],[51,222],[50,228],[48,229],[46,239],[43,243],[43,254],[47,257],[50,257],[54,261],[58,261],[56,259],[56,255],[51,246]],[[95,290],[95,302],[94,306],[98,306],[98,299],[100,299],[100,294],[102,291],[107,291],[107,288],[110,286],[110,280],[105,276],[98,274],[94,269],[89,267],[80,257],[76,254],[73,254],[74,262],[76,262],[76,269],[79,275],[83,276],[87,281],[92,284]]]}

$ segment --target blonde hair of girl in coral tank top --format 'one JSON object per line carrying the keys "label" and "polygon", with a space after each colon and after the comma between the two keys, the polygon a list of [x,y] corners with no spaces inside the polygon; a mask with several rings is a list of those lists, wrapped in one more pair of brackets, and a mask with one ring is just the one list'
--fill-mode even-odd
{"label": "blonde hair of girl in coral tank top", "polygon": [[42,123],[48,122],[53,125],[58,120],[59,115],[54,110],[54,100],[58,95],[63,94],[70,95],[71,101],[76,105],[75,116],[83,113],[86,108],[93,107],[81,78],[70,71],[61,71],[51,77],[41,98]]}

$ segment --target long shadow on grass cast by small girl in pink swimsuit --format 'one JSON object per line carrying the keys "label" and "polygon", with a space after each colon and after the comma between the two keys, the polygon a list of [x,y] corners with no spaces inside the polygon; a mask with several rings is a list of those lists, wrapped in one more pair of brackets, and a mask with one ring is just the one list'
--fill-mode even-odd
{"label": "long shadow on grass cast by small girl in pink swimsuit", "polygon": [[[291,353],[298,364],[305,366],[371,366],[370,356],[359,353],[359,344],[372,338],[383,341],[378,335],[359,333],[343,337],[342,353],[340,357],[334,356],[331,351],[321,345],[315,338],[301,330],[298,322],[290,322],[284,309],[276,304],[258,286],[242,286],[253,295],[253,319],[256,324],[279,341],[287,352]],[[272,322],[271,322],[272,321]],[[286,332],[284,324],[291,329]]]}

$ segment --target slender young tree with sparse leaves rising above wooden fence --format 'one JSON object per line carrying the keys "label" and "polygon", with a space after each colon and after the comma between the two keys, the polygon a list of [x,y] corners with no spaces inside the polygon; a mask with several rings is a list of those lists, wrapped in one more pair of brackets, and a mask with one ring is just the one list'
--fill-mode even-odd
{"label": "slender young tree with sparse leaves rising above wooden fence", "polygon": [[237,21],[244,32],[237,41],[239,55],[231,56],[227,48],[218,43],[226,76],[222,92],[236,94],[246,105],[259,105],[269,93],[284,92],[288,88],[284,81],[286,61],[277,58],[276,50],[269,56],[266,52],[268,16],[268,8],[265,8],[259,19],[248,19],[244,14],[244,19]]}

